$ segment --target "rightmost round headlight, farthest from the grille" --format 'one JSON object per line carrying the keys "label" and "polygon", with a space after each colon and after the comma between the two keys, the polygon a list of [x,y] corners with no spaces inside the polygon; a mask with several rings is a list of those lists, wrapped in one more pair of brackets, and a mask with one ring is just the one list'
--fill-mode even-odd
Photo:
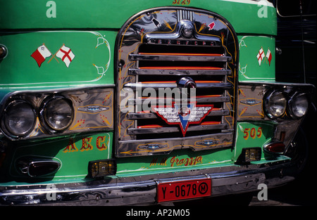
{"label": "rightmost round headlight, farthest from the grille", "polygon": [[303,117],[309,108],[309,101],[305,93],[295,93],[289,101],[289,112],[294,118]]}

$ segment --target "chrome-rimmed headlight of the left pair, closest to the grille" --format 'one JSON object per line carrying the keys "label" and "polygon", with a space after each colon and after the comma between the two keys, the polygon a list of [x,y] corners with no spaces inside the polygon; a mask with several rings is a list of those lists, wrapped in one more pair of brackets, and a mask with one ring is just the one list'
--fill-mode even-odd
{"label": "chrome-rimmed headlight of the left pair, closest to the grille", "polygon": [[[68,112],[63,112],[62,107],[66,108],[66,111]],[[61,114],[62,112],[63,114]],[[68,127],[70,127],[70,124],[72,124],[74,119],[73,104],[68,98],[63,96],[51,96],[42,102],[39,110],[39,117],[41,119],[42,126],[49,133],[65,131]],[[55,119],[49,117],[54,117]],[[58,118],[60,119],[60,122],[57,122]],[[60,124],[63,119],[66,120],[64,120],[63,124],[61,124],[61,127],[58,127],[58,124]]]}

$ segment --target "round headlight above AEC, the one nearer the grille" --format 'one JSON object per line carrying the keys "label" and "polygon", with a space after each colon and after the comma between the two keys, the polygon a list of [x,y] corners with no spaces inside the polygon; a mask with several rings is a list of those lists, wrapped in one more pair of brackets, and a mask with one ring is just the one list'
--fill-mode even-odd
{"label": "round headlight above AEC, the one nearer the grille", "polygon": [[59,96],[51,98],[44,104],[41,117],[50,129],[63,131],[73,122],[73,107],[71,102]]}

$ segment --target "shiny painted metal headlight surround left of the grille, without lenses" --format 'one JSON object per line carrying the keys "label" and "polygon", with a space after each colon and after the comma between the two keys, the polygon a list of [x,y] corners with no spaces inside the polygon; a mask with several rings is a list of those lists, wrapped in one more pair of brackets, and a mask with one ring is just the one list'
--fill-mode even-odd
{"label": "shiny painted metal headlight surround left of the grille, without lenses", "polygon": [[[59,138],[92,131],[113,131],[114,87],[114,84],[106,84],[104,86],[82,86],[66,89],[4,91],[2,94],[4,97],[0,102],[0,138],[8,138],[10,141],[41,141],[43,138]],[[49,127],[43,115],[44,106],[47,106],[49,101],[54,98],[66,101],[72,112],[66,126],[56,130]],[[23,136],[11,134],[4,124],[4,111],[8,110],[8,105],[13,101],[29,103],[34,109],[32,112],[36,115],[32,131]]]}

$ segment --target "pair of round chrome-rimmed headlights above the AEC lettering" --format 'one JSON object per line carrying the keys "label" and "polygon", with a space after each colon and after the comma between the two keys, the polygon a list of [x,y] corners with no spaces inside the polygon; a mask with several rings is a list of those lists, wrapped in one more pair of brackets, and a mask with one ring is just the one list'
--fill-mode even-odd
{"label": "pair of round chrome-rimmed headlights above the AEC lettering", "polygon": [[73,105],[62,96],[45,99],[39,110],[27,101],[11,101],[1,118],[1,129],[13,138],[25,137],[35,129],[37,115],[48,133],[56,133],[67,129],[73,122]]}

